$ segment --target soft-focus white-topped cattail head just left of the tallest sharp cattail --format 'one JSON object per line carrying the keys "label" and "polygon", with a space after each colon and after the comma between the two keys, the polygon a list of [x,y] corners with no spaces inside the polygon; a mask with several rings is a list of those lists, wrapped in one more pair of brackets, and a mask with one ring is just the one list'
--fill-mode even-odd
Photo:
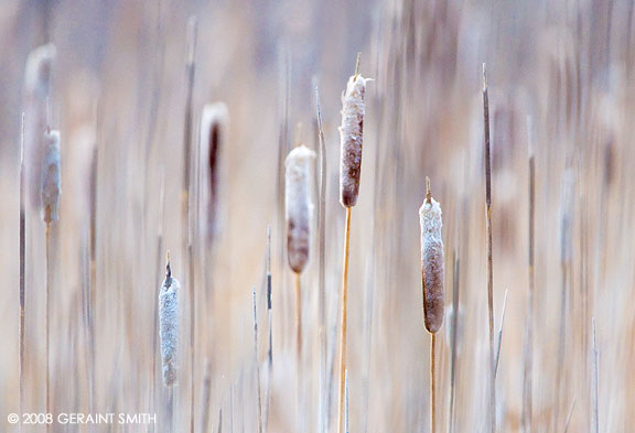
{"label": "soft-focus white-topped cattail head just left of the tallest sharp cattail", "polygon": [[284,213],[287,256],[295,273],[304,270],[311,247],[311,167],[315,152],[300,145],[289,152],[286,166]]}

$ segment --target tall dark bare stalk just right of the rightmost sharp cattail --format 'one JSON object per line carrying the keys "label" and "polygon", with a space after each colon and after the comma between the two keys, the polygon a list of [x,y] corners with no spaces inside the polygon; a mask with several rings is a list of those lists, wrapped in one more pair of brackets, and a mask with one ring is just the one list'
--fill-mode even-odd
{"label": "tall dark bare stalk just right of the rightmost sharp cattail", "polygon": [[485,141],[485,206],[487,219],[487,313],[489,318],[489,431],[496,431],[496,374],[494,360],[494,269],[492,263],[492,159],[489,153],[489,97],[483,64],[483,127]]}

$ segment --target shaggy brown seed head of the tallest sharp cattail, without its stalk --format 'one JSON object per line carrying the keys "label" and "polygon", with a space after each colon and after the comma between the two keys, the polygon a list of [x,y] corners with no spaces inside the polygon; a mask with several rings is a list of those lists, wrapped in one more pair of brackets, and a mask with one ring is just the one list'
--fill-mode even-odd
{"label": "shaggy brown seed head of the tallest sharp cattail, without its stalk", "polygon": [[353,207],[359,194],[362,147],[364,141],[364,94],[366,82],[360,75],[348,79],[342,96],[342,126],[340,127],[340,202]]}

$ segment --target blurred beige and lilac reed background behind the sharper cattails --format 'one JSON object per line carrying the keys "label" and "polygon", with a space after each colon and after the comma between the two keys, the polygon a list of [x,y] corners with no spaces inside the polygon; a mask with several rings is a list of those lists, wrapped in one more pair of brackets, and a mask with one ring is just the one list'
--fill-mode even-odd
{"label": "blurred beige and lilac reed background behind the sharper cattails", "polygon": [[[26,141],[29,127],[44,118],[62,137],[63,194],[51,228],[49,280],[51,410],[158,416],[157,424],[54,424],[53,431],[171,431],[155,326],[166,250],[182,288],[172,431],[335,431],[345,223],[337,127],[341,94],[360,52],[360,72],[374,82],[351,234],[349,431],[429,431],[418,219],[426,176],[443,209],[445,245],[438,430],[489,430],[483,63],[496,331],[507,291],[496,430],[633,431],[633,8],[627,0],[2,1],[0,430],[18,431],[6,419],[20,410],[24,111]],[[190,17],[197,19],[191,119]],[[26,58],[46,42],[56,48],[51,86],[33,96]],[[301,277],[298,357],[283,159],[300,143],[320,151],[315,84],[325,153],[315,160],[315,235]],[[197,161],[207,154],[198,125],[204,105],[216,101],[227,106],[228,123],[217,160],[217,224],[206,236],[211,208],[201,197],[212,193],[205,163]],[[184,212],[186,123],[193,171]],[[325,206],[319,207],[324,154]],[[535,286],[528,322],[530,154]],[[39,166],[33,158],[25,152],[28,174]],[[25,205],[22,411],[44,412],[45,225],[30,188]],[[316,229],[321,216],[324,236]]]}

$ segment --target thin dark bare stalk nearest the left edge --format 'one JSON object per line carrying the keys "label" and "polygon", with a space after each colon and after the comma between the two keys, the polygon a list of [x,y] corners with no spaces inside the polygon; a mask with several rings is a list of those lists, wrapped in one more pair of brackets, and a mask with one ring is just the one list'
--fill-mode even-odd
{"label": "thin dark bare stalk nearest the left edge", "polygon": [[[22,113],[22,128],[20,133],[20,324],[19,324],[19,353],[18,365],[20,377],[20,414],[24,413],[24,300],[26,295],[26,206],[24,197],[24,112]],[[18,431],[22,431],[22,423],[18,423]]]}

